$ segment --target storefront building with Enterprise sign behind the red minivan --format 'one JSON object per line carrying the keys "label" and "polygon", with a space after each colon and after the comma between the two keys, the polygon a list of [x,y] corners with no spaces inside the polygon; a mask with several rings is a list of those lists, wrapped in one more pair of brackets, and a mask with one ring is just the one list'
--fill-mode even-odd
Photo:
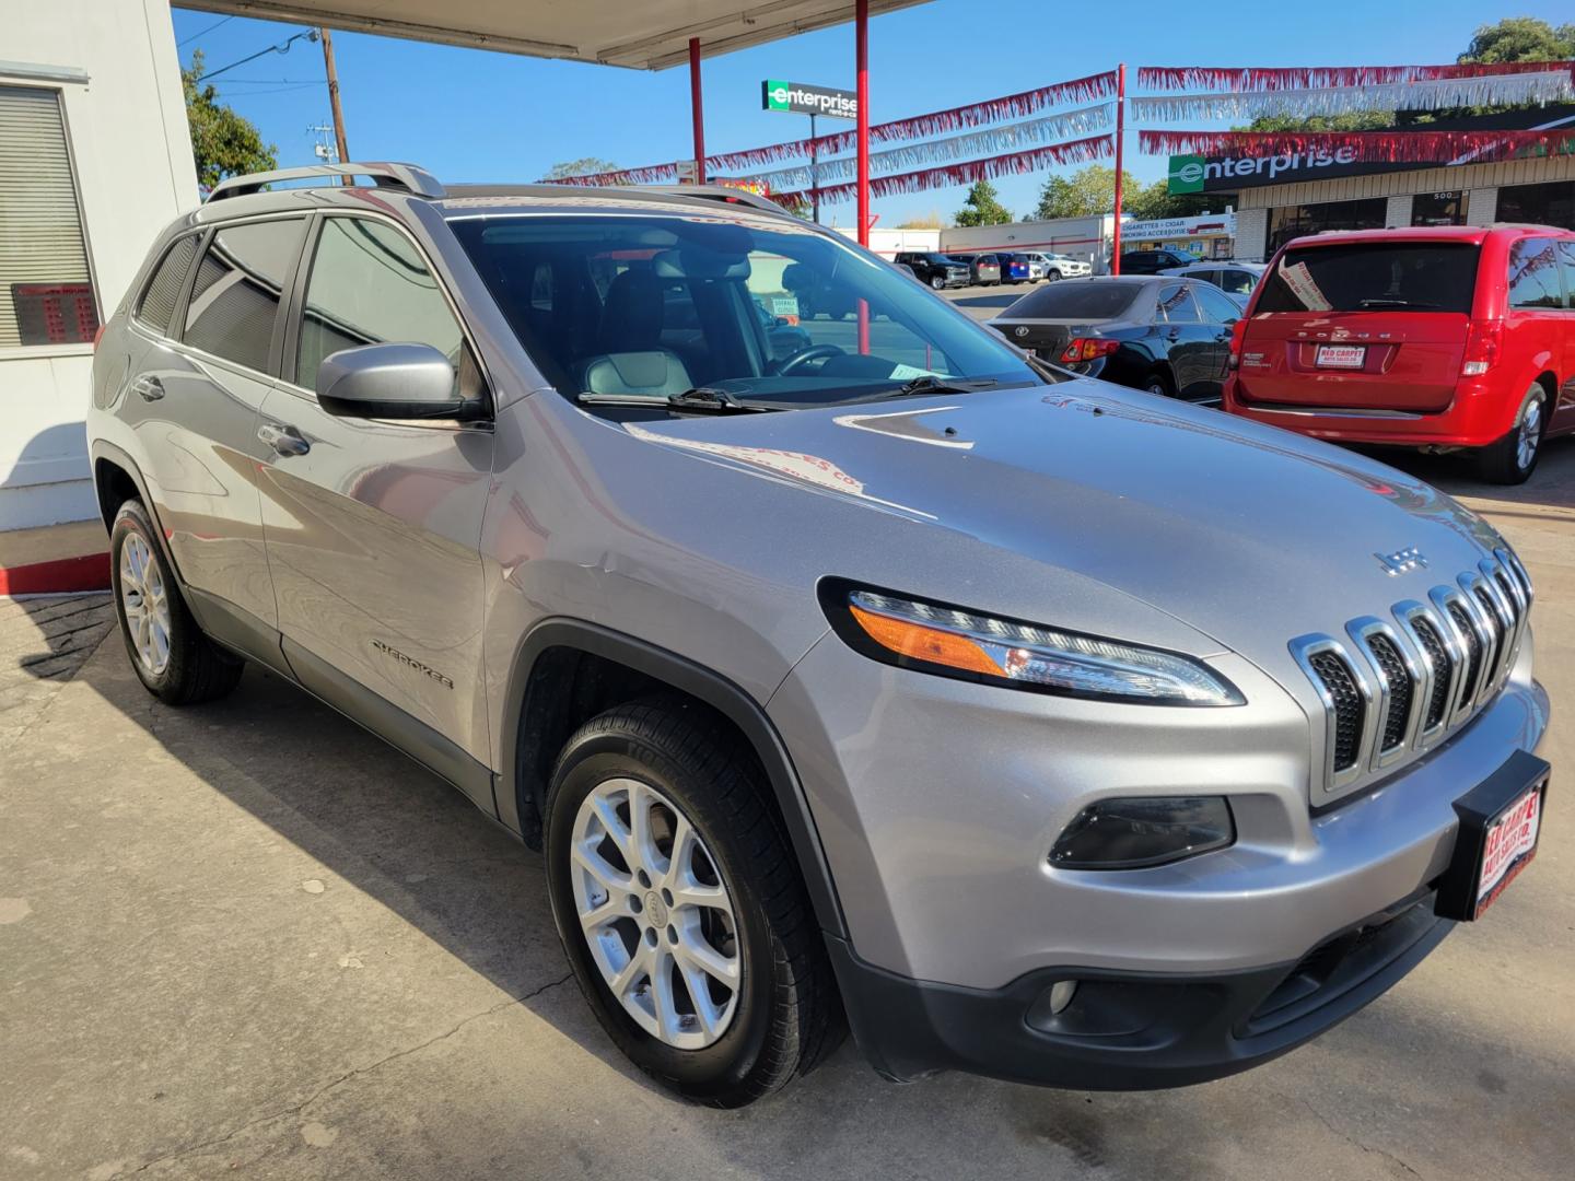
{"label": "storefront building with Enterprise sign behind the red minivan", "polygon": [[[1458,120],[1575,126],[1575,106]],[[1443,123],[1433,126],[1446,126]],[[1170,157],[1172,192],[1235,192],[1235,257],[1263,261],[1325,230],[1534,222],[1575,228],[1575,154],[1446,165],[1362,164],[1350,150],[1262,157]]]}

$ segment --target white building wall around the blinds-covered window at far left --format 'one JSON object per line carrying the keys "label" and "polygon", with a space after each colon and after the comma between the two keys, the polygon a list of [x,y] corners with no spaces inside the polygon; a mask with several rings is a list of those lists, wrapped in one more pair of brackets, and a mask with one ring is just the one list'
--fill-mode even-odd
{"label": "white building wall around the blinds-covered window at far left", "polygon": [[[0,0],[0,85],[61,91],[99,318],[154,235],[197,203],[169,0]],[[85,82],[38,76],[76,69]],[[96,512],[82,422],[90,345],[0,350],[0,529]]]}

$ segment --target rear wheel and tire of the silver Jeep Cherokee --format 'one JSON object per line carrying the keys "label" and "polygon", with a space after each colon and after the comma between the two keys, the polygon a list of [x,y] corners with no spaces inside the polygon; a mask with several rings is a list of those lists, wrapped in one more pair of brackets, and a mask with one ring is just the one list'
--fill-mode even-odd
{"label": "rear wheel and tire of the silver Jeep Cherokee", "polygon": [[165,705],[195,705],[230,693],[246,663],[197,627],[140,501],[126,501],[115,513],[109,557],[126,655],[148,693]]}

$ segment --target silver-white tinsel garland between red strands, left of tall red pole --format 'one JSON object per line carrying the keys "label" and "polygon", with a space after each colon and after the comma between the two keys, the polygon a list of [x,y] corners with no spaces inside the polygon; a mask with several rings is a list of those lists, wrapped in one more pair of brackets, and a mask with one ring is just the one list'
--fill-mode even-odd
{"label": "silver-white tinsel garland between red strands, left of tall red pole", "polygon": [[[1024,90],[1017,94],[969,102],[947,110],[932,110],[928,115],[914,115],[906,120],[877,123],[869,128],[869,139],[874,143],[893,143],[901,140],[925,139],[943,131],[959,131],[962,128],[980,128],[1002,120],[1022,118],[1047,107],[1065,102],[1091,102],[1093,99],[1115,94],[1115,71],[1073,79],[1071,82],[1054,82],[1047,87]],[[747,148],[743,151],[728,151],[706,157],[706,172],[750,172],[778,161],[800,159],[811,154],[811,148],[819,156],[838,156],[852,151],[857,143],[855,131],[839,131],[833,135],[819,135],[813,140],[788,140],[784,143],[769,143],[762,148]],[[587,173],[583,176],[564,176],[553,184],[655,184],[677,180],[677,164],[650,164],[641,168],[619,168],[616,172]]]}

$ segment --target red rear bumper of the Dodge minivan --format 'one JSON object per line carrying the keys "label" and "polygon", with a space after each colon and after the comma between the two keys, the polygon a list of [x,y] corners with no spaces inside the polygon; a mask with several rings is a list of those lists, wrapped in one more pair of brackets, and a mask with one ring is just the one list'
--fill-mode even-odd
{"label": "red rear bumper of the Dodge minivan", "polygon": [[1510,428],[1518,406],[1493,375],[1462,378],[1449,406],[1436,414],[1394,409],[1282,405],[1244,397],[1241,376],[1225,379],[1222,409],[1269,427],[1337,442],[1380,442],[1399,447],[1487,447]]}

